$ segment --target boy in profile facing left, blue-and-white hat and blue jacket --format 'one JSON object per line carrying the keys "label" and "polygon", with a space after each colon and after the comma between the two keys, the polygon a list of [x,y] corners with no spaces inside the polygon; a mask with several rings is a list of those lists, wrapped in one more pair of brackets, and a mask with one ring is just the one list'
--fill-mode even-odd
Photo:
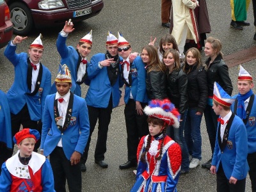
{"label": "boy in profile facing left, blue-and-white hat and blue jacket", "polygon": [[212,109],[220,118],[210,170],[217,174],[218,192],[244,191],[248,173],[246,128],[241,118],[230,111],[234,100],[214,83]]}

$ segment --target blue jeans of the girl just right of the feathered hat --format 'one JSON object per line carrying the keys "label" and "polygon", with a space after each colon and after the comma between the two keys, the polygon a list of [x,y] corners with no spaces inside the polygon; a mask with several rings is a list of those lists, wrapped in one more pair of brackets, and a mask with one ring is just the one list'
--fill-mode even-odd
{"label": "blue jeans of the girl just right of the feathered hat", "polygon": [[166,134],[168,136],[171,136],[171,138],[176,141],[181,148],[181,156],[182,156],[182,162],[181,162],[181,170],[188,171],[189,170],[189,153],[188,153],[188,147],[186,144],[186,141],[184,139],[184,127],[186,122],[186,116],[187,116],[188,110],[186,110],[183,113],[183,120],[180,122],[179,128],[173,128],[172,126],[167,128]]}

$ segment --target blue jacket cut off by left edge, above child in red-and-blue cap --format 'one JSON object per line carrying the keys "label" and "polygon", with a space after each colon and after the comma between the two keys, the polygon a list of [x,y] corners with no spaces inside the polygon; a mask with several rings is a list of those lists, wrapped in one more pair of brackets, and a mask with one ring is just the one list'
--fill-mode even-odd
{"label": "blue jacket cut off by left edge, above child in red-and-blue cap", "polygon": [[8,148],[12,148],[12,126],[11,114],[5,93],[0,90],[0,141],[6,143]]}

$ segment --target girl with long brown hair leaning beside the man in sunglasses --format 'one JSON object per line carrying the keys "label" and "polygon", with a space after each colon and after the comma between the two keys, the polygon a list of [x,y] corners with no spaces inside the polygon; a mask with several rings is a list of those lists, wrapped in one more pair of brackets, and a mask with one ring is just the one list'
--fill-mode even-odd
{"label": "girl with long brown hair leaning beside the man in sunglasses", "polygon": [[166,76],[164,66],[159,60],[157,49],[146,45],[141,52],[141,59],[147,70],[146,86],[148,99],[166,99]]}

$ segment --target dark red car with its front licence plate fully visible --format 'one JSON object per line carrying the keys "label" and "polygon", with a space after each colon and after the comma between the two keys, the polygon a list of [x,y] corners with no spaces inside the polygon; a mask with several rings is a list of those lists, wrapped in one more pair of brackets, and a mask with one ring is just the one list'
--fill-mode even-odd
{"label": "dark red car with its front licence plate fully visible", "polygon": [[28,34],[33,26],[56,26],[93,17],[102,10],[102,0],[6,0],[14,33]]}

